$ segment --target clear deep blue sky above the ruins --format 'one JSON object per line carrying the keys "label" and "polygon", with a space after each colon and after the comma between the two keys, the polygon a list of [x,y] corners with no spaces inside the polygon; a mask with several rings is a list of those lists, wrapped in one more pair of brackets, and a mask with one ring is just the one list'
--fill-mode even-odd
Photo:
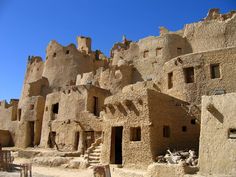
{"label": "clear deep blue sky above the ruins", "polygon": [[50,40],[76,43],[90,36],[109,53],[125,34],[131,40],[182,29],[210,8],[236,10],[236,0],[0,0],[0,100],[19,98],[28,55],[45,57]]}

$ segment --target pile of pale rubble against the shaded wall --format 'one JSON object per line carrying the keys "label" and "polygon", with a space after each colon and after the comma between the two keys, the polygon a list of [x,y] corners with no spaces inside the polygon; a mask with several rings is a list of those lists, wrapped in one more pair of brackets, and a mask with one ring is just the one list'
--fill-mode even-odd
{"label": "pile of pale rubble against the shaded wall", "polygon": [[171,152],[168,149],[165,155],[158,156],[156,160],[158,163],[186,164],[189,166],[196,166],[198,163],[196,152],[193,150]]}

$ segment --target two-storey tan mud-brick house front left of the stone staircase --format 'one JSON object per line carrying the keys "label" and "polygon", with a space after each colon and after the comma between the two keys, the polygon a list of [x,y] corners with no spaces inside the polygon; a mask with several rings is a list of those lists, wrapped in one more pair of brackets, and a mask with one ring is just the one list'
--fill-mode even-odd
{"label": "two-storey tan mud-brick house front left of the stone staircase", "polygon": [[[42,147],[49,147],[49,133],[55,132],[55,142],[61,150],[78,150],[84,153],[84,132],[102,131],[102,122],[99,114],[103,107],[104,99],[109,92],[92,85],[70,86],[60,92],[54,92],[47,96],[43,132]],[[97,105],[94,103],[96,98]],[[57,112],[54,106],[58,104]],[[96,112],[94,109],[96,106]],[[77,133],[77,134],[76,134]],[[79,140],[76,137],[79,133]],[[79,141],[78,147],[76,141]]]}

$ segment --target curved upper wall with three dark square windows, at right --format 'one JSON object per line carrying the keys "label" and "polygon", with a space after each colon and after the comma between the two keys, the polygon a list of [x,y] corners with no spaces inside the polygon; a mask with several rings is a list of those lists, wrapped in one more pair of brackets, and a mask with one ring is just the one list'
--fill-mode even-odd
{"label": "curved upper wall with three dark square windows, at right", "polygon": [[[220,77],[211,78],[211,65],[219,64]],[[173,58],[164,65],[162,92],[181,100],[200,104],[202,95],[230,93],[236,90],[236,48],[188,54]],[[194,82],[186,83],[184,68],[194,68]],[[168,89],[168,73],[173,73],[173,87]]]}

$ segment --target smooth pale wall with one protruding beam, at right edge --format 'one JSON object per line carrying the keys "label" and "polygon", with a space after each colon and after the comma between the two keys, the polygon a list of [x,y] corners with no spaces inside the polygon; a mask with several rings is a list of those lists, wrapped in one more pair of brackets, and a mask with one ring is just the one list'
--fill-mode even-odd
{"label": "smooth pale wall with one protruding beam, at right edge", "polygon": [[236,175],[236,94],[202,97],[200,173]]}

